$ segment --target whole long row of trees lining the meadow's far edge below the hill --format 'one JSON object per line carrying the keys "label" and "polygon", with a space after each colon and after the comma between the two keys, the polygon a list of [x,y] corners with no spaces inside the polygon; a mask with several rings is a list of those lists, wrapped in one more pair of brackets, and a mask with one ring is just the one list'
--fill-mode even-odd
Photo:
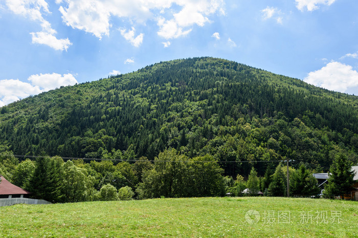
{"label": "whole long row of trees lining the meadow's far edge below the hill", "polygon": [[[0,174],[23,187],[37,199],[51,202],[130,200],[146,198],[286,195],[286,167],[269,166],[264,176],[254,167],[246,179],[224,176],[212,156],[188,158],[175,149],[161,152],[154,161],[141,157],[135,162],[67,160],[41,157],[19,161],[0,154]],[[289,168],[291,194],[317,195],[320,189],[312,171],[301,163]],[[248,191],[244,193],[244,189]]]}

